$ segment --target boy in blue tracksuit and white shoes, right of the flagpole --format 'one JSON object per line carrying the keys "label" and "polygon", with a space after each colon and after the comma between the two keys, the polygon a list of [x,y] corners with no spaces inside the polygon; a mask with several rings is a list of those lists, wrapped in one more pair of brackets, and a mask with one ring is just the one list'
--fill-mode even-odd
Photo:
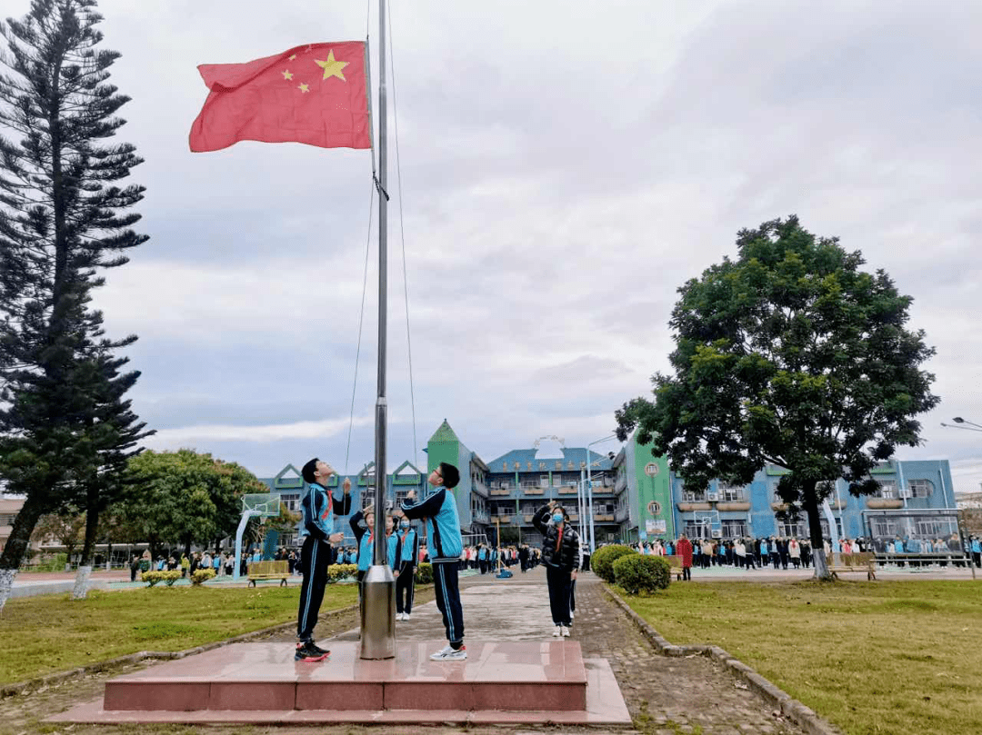
{"label": "boy in blue tracksuit and white shoes, right of the flagpole", "polygon": [[426,520],[436,605],[443,615],[449,642],[446,648],[430,656],[434,661],[463,661],[467,657],[464,648],[464,609],[461,607],[457,576],[464,540],[457,516],[457,499],[450,492],[460,481],[461,473],[457,467],[440,462],[427,480],[435,488],[434,492],[428,498],[416,501],[415,491],[410,490],[403,503],[403,513],[409,520]]}

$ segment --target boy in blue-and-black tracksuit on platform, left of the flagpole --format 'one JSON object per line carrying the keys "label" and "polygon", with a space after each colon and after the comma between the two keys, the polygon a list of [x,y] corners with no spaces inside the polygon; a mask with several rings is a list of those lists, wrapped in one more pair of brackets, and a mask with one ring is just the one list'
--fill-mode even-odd
{"label": "boy in blue-and-black tracksuit on platform, left of the flagpole", "polygon": [[303,547],[300,550],[303,585],[300,587],[300,610],[297,614],[297,652],[298,661],[321,661],[330,653],[313,642],[313,627],[317,624],[320,604],[324,599],[327,585],[327,567],[330,566],[333,550],[344,534],[334,532],[334,516],[348,515],[352,509],[352,481],[344,482],[345,495],[336,499],[327,490],[327,481],[334,474],[334,468],[327,462],[314,457],[303,465],[300,473],[303,481],[310,486],[310,492],[300,502],[303,518],[300,535]]}

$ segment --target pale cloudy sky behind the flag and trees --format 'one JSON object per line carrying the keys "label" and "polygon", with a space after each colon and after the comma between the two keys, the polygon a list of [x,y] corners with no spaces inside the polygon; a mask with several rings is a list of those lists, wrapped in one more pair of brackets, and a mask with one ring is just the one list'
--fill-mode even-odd
{"label": "pale cloudy sky behind the flag and trees", "polygon": [[[394,5],[417,462],[444,418],[485,460],[610,435],[667,367],[676,289],[735,254],[740,228],[796,213],[914,297],[943,401],[900,458],[950,458],[956,489],[978,489],[982,434],[941,422],[982,423],[982,5]],[[370,156],[192,154],[188,131],[207,91],[196,65],[366,30],[377,45],[376,8],[366,25],[364,2],[99,6],[151,239],[98,301],[113,333],[139,335],[150,446],[260,476],[312,453],[357,471],[375,395],[372,242],[349,453]],[[390,468],[414,451],[395,152]]]}

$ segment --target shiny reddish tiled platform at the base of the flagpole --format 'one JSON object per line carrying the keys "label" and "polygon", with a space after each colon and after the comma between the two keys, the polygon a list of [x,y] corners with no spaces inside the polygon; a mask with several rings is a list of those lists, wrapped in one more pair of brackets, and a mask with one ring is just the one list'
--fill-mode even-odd
{"label": "shiny reddish tiled platform at the base of the flagpole", "polygon": [[74,722],[629,722],[605,659],[575,641],[472,643],[467,660],[434,662],[438,642],[400,643],[363,661],[357,644],[297,663],[291,646],[236,644],[106,683],[103,701],[52,717]]}

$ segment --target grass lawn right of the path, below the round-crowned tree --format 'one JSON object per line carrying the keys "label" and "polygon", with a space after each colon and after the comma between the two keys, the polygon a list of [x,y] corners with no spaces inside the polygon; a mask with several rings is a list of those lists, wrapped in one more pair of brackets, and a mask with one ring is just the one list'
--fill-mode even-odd
{"label": "grass lawn right of the path, below the round-crowned tree", "polygon": [[681,584],[628,604],[717,645],[848,735],[982,733],[982,584]]}

